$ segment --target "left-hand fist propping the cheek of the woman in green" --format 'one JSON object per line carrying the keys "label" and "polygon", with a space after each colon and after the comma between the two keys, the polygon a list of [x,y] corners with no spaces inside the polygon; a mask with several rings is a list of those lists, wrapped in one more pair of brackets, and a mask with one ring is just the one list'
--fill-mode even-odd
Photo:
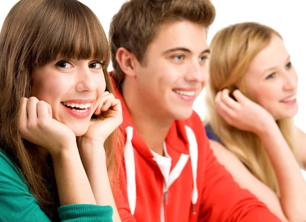
{"label": "left-hand fist propping the cheek of the woman in green", "polygon": [[55,120],[51,106],[36,97],[22,98],[18,127],[23,139],[44,147],[51,155],[75,144],[73,131]]}

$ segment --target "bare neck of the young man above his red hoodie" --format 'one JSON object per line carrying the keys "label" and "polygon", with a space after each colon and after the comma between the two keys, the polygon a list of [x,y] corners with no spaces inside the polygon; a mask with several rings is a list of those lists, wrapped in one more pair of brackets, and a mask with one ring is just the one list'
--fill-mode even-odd
{"label": "bare neck of the young man above his red hoodie", "polygon": [[167,137],[173,120],[165,119],[159,115],[160,113],[146,107],[133,86],[125,88],[122,84],[121,89],[127,110],[129,110],[138,133],[150,150],[164,156],[163,141]]}

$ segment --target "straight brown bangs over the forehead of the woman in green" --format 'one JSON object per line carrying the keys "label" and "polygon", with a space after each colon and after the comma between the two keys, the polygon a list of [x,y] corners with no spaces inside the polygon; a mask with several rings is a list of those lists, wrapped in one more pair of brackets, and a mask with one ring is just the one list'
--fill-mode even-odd
{"label": "straight brown bangs over the forehead of the woman in green", "polygon": [[[53,4],[48,5],[48,2]],[[54,61],[59,55],[64,59],[98,60],[108,67],[109,44],[98,18],[82,3],[56,2],[46,1],[49,15],[42,18],[45,21],[40,22],[41,27],[33,45],[34,67]],[[54,10],[50,10],[50,7]]]}

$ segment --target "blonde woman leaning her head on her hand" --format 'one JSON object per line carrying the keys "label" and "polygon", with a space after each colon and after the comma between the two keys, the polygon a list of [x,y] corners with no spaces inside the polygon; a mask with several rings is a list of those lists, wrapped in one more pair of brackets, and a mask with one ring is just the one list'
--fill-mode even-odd
{"label": "blonde woman leaning her head on her hand", "polygon": [[297,74],[283,39],[246,22],[211,42],[206,131],[218,161],[284,221],[306,220],[306,135],[293,122]]}

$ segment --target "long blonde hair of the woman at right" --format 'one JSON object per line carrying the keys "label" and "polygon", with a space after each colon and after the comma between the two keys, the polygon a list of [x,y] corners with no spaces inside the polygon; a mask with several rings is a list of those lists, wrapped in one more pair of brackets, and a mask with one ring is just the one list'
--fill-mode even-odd
{"label": "long blonde hair of the woman at right", "polygon": [[[210,81],[206,93],[208,118],[214,133],[228,150],[244,163],[248,170],[269,186],[277,195],[277,178],[260,138],[251,132],[241,131],[228,125],[215,110],[218,91],[230,89],[231,95],[239,89],[247,95],[245,73],[256,55],[267,47],[275,36],[275,30],[256,22],[234,24],[219,31],[211,42]],[[282,38],[282,37],[281,37]],[[295,151],[293,119],[276,121],[290,149]]]}

